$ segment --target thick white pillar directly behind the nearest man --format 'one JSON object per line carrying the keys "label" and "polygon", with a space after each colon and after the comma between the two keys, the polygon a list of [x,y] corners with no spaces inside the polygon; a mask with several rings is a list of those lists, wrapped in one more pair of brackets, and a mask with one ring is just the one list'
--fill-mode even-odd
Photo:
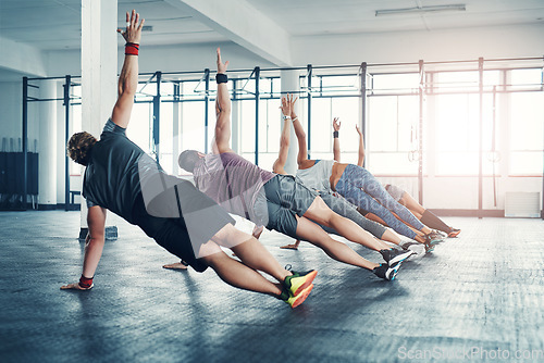
{"label": "thick white pillar directly behind the nearest man", "polygon": [[[82,0],[82,124],[97,138],[118,99],[116,28],[118,0]],[[106,223],[108,226],[109,221]],[[79,237],[86,227],[87,208],[82,198]]]}

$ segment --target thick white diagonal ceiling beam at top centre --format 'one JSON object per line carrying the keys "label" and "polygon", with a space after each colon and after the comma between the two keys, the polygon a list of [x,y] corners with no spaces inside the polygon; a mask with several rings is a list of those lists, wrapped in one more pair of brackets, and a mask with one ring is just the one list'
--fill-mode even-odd
{"label": "thick white diagonal ceiling beam at top centre", "polygon": [[164,0],[279,66],[290,66],[290,35],[245,0]]}

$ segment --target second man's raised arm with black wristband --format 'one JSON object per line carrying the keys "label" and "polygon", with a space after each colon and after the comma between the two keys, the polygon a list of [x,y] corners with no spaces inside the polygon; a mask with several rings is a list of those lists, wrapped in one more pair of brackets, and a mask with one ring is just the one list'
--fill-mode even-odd
{"label": "second man's raised arm with black wristband", "polygon": [[221,50],[218,48],[218,97],[215,98],[215,114],[218,121],[215,123],[215,147],[212,148],[215,153],[233,152],[230,147],[231,142],[231,96],[226,87],[226,67],[228,61],[221,61]]}

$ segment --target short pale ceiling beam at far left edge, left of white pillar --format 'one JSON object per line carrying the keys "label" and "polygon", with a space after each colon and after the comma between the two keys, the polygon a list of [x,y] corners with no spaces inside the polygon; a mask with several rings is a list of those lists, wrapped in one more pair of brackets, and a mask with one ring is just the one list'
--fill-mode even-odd
{"label": "short pale ceiling beam at far left edge, left of white pillar", "polygon": [[25,75],[45,77],[47,75],[42,52],[28,45],[0,36],[0,67]]}

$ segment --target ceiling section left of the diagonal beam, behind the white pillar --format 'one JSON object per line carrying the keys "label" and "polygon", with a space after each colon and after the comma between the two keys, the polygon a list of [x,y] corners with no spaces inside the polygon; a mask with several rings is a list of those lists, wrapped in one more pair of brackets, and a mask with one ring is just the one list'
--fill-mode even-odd
{"label": "ceiling section left of the diagonal beam, behind the white pillar", "polygon": [[[227,40],[163,0],[119,0],[119,26],[131,9],[152,26],[146,33],[149,45]],[[79,49],[81,21],[81,0],[0,0],[0,35],[42,50]]]}

